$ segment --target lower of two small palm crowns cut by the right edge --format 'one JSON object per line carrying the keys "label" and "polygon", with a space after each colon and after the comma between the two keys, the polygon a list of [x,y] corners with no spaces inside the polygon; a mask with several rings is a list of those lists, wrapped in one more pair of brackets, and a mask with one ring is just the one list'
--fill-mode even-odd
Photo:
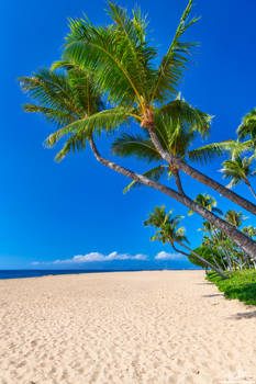
{"label": "lower of two small palm crowns cut by the right edge", "polygon": [[249,177],[254,177],[256,174],[256,171],[253,171],[251,169],[253,160],[254,155],[249,158],[244,157],[243,159],[240,156],[236,156],[234,159],[225,160],[222,163],[223,168],[221,169],[221,172],[223,173],[223,179],[231,179],[230,184],[226,185],[227,188],[237,185],[243,181],[256,199],[256,193],[254,192],[253,187],[248,181]]}

